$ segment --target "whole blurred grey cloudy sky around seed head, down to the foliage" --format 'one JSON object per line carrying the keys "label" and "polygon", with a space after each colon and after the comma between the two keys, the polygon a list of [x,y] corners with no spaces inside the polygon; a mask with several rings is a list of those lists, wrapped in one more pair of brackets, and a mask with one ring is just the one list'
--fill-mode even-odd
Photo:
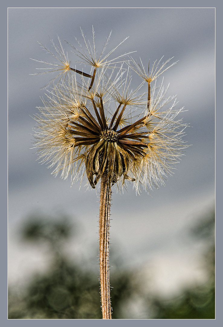
{"label": "whole blurred grey cloudy sky around seed head, down to the foliage", "polygon": [[[145,66],[162,56],[179,60],[164,74],[164,85],[170,83],[168,94],[177,94],[178,106],[186,110],[181,117],[191,127],[184,140],[192,146],[166,186],[151,195],[136,196],[131,187],[120,195],[114,188],[110,228],[111,277],[117,271],[141,272],[142,280],[150,280],[150,294],[174,298],[209,278],[204,254],[214,235],[193,239],[191,230],[205,224],[215,206],[214,8],[8,9],[8,284],[14,290],[27,287],[51,267],[49,246],[21,236],[32,217],[51,223],[67,217],[75,232],[64,244],[64,256],[98,282],[99,192],[86,191],[85,183],[71,187],[70,180],[54,178],[38,163],[31,117],[41,106],[40,88],[53,76],[29,75],[40,67],[29,58],[51,60],[37,41],[50,48],[49,36],[56,43],[58,35],[71,54],[63,40],[75,45],[76,37],[83,43],[80,27],[91,39],[92,25],[99,52],[112,30],[108,51],[129,36],[117,55],[136,50],[133,58]],[[140,315],[130,307],[120,315]]]}

